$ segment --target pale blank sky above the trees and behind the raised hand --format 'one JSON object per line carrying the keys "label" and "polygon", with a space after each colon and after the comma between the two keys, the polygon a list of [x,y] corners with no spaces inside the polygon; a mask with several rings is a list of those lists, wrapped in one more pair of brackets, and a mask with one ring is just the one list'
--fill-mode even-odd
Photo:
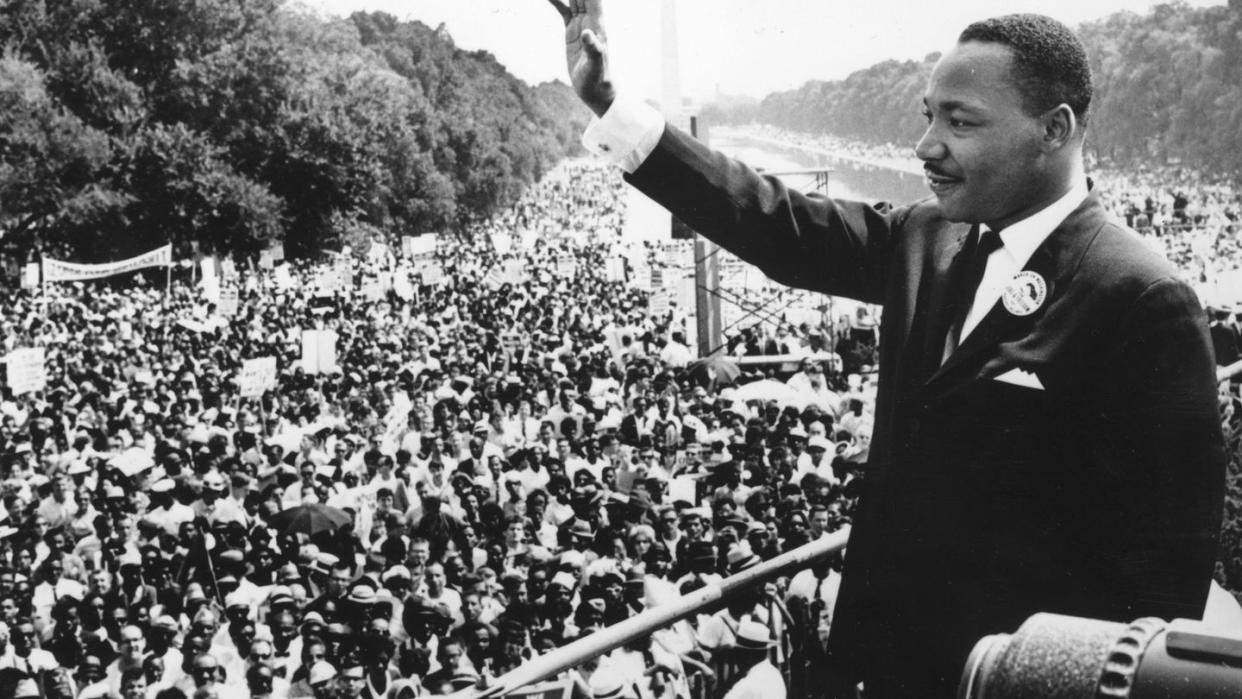
{"label": "pale blank sky above the trees and behind the raised hand", "polygon": [[[493,53],[513,74],[566,81],[564,24],[548,0],[299,0],[325,15],[384,11],[432,27],[443,22],[466,50]],[[661,6],[605,0],[615,82],[660,98]],[[674,4],[682,94],[764,97],[811,79],[840,79],[888,58],[922,60],[953,45],[974,20],[1042,12],[1071,26],[1150,0],[667,0]],[[1220,5],[1223,0],[1190,0]]]}

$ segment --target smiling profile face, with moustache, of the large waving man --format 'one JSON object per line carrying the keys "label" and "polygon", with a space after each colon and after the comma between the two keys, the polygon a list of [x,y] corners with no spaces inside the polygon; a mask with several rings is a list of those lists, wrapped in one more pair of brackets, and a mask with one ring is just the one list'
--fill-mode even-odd
{"label": "smiling profile face, with moustache, of the large waving man", "polygon": [[932,71],[924,96],[928,129],[914,153],[950,221],[1004,227],[1053,194],[1046,184],[1042,122],[1026,113],[1012,61],[1007,46],[969,41]]}

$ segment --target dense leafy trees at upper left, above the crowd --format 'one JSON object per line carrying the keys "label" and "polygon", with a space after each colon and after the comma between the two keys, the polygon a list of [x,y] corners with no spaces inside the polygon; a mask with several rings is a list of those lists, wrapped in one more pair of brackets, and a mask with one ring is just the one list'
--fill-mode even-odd
{"label": "dense leafy trees at upper left, above the crowd", "polygon": [[460,230],[589,113],[441,26],[279,0],[0,5],[0,246],[87,262]]}

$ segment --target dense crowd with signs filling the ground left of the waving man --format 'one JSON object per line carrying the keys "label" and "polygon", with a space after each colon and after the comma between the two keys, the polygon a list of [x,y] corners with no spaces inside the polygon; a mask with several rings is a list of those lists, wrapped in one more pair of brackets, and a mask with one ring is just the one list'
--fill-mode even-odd
{"label": "dense crowd with signs filling the ground left of the waving man", "polygon": [[[236,308],[184,271],[0,292],[2,351],[47,371],[0,395],[0,697],[487,687],[848,523],[873,320],[732,333],[791,374],[692,361],[686,309],[633,284],[664,255],[617,240],[622,187],[569,163],[417,257],[236,261]],[[760,668],[815,695],[838,562],[560,680],[707,698]]]}

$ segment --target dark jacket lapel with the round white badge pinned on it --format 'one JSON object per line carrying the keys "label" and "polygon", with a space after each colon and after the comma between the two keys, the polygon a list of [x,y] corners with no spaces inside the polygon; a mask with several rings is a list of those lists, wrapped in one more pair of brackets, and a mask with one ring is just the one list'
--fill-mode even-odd
{"label": "dark jacket lapel with the round white badge pinned on it", "polygon": [[949,355],[944,363],[928,380],[929,384],[941,380],[954,374],[961,366],[974,365],[971,360],[985,350],[995,349],[996,345],[1007,339],[1030,333],[1035,324],[1043,317],[1048,307],[1056,303],[1058,292],[1063,291],[1083,253],[1099,230],[1099,226],[1089,225],[1092,219],[1103,215],[1098,197],[1088,195],[1056,230],[1036,248],[1035,255],[1022,268],[1023,272],[1035,272],[1043,278],[1047,284],[1047,295],[1043,304],[1030,315],[1015,315],[1005,308],[1004,297],[999,299],[987,312],[979,325],[966,335],[961,345]]}

